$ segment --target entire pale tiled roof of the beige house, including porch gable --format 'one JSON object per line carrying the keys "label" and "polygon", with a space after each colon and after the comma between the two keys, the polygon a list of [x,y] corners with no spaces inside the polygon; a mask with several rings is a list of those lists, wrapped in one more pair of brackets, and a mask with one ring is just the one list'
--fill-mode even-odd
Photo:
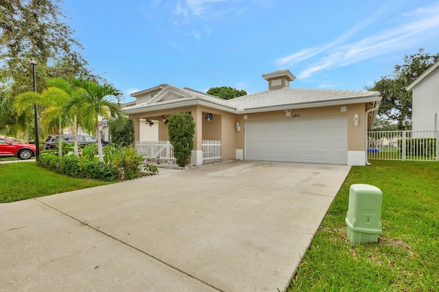
{"label": "entire pale tiled roof of the beige house, including porch gable", "polygon": [[[147,91],[143,90],[139,93]],[[132,96],[139,95],[139,93],[135,93]],[[226,100],[190,88],[167,85],[147,102],[129,106],[126,108],[126,112],[128,114],[135,114],[181,106],[202,105],[239,114],[244,112],[267,112],[271,110],[357,104],[369,101],[381,101],[379,92],[285,87]]]}

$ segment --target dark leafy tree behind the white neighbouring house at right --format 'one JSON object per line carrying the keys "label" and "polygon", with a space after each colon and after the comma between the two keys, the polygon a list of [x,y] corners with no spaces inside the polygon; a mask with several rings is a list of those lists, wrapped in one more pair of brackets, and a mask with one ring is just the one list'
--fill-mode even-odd
{"label": "dark leafy tree behind the white neighbouring house at right", "polygon": [[390,124],[397,125],[399,130],[407,130],[412,126],[412,92],[405,88],[417,77],[427,71],[439,60],[439,53],[430,55],[419,49],[418,53],[405,55],[404,64],[394,66],[390,76],[381,77],[374,86],[367,90],[377,90],[383,97],[379,108],[379,117],[387,119]]}

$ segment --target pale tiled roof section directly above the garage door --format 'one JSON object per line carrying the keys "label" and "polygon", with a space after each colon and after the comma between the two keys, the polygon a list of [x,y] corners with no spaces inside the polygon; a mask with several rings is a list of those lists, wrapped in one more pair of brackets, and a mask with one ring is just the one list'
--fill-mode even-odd
{"label": "pale tiled roof section directly above the garage door", "polygon": [[228,103],[237,109],[247,110],[250,108],[316,104],[325,101],[351,101],[366,97],[379,97],[379,92],[285,87],[276,90],[265,90],[252,95],[244,95],[243,97],[230,99]]}

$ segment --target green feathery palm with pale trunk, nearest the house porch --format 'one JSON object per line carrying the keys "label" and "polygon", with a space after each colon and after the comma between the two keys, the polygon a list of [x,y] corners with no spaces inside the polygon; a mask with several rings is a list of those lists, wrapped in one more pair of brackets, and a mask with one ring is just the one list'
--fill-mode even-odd
{"label": "green feathery palm with pale trunk, nearest the house porch", "polygon": [[[99,116],[108,120],[119,119],[123,116],[120,104],[122,93],[110,84],[99,84],[94,81],[73,80],[73,84],[82,90],[67,101],[64,110],[76,107],[82,127],[89,132],[95,130],[99,161],[104,161],[98,119]],[[115,97],[117,102],[112,101],[111,97]]]}

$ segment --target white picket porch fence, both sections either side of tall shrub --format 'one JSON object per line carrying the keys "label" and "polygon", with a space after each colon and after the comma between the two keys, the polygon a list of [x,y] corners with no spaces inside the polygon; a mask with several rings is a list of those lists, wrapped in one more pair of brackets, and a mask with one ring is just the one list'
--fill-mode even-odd
{"label": "white picket porch fence, both sections either side of tall shrub", "polygon": [[[152,159],[175,162],[174,147],[169,141],[136,141],[137,154],[145,155]],[[221,160],[221,141],[202,141],[203,162]]]}

